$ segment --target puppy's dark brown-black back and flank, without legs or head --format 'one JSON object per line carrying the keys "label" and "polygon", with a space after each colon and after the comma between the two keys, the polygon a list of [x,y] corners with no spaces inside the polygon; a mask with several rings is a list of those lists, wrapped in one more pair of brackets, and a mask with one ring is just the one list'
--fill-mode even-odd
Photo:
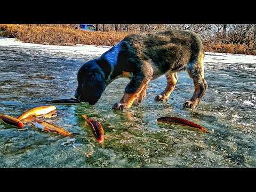
{"label": "puppy's dark brown-black back and flank, without legs or head", "polygon": [[[170,30],[156,34],[132,34],[126,36],[122,50],[137,53],[135,60],[150,60],[159,72],[186,69],[190,62],[195,62],[200,54],[204,55],[201,39],[193,31]],[[122,54],[122,53],[121,53]],[[132,54],[134,57],[134,54]]]}

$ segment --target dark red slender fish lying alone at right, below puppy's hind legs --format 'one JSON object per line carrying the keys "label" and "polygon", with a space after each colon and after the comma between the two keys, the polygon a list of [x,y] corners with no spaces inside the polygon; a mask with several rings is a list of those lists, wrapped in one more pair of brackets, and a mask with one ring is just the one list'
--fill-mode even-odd
{"label": "dark red slender fish lying alone at right, below puppy's hind legs", "polygon": [[203,126],[197,125],[195,123],[192,123],[188,121],[187,119],[179,118],[179,117],[160,117],[156,119],[157,122],[162,122],[162,123],[168,123],[171,125],[182,125],[182,126],[188,126],[192,127],[198,130],[201,130],[203,132],[209,133],[208,130],[206,130]]}

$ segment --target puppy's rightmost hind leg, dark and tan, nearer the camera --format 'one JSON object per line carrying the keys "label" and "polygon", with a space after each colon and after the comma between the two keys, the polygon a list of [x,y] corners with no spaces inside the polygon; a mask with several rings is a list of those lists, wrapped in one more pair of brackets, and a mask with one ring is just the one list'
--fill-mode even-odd
{"label": "puppy's rightmost hind leg, dark and tan, nearer the camera", "polygon": [[208,85],[204,79],[204,55],[199,54],[196,62],[189,63],[187,66],[188,75],[193,79],[195,85],[195,92],[189,101],[186,101],[183,107],[196,108],[199,101],[204,95]]}

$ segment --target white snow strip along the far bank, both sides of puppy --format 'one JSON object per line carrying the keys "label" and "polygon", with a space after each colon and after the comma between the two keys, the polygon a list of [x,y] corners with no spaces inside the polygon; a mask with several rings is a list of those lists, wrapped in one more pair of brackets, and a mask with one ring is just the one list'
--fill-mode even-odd
{"label": "white snow strip along the far bank, both sides of puppy", "polygon": [[[35,43],[23,43],[18,41],[18,39],[7,38],[7,37],[0,37],[0,46],[37,47],[37,49],[47,49],[49,51],[54,51],[54,52],[67,52],[67,53],[78,52],[79,54],[87,54],[87,55],[102,54],[108,51],[112,47],[112,46],[95,46],[95,45],[80,45],[80,44],[75,44],[75,46],[42,45],[42,44],[35,44]],[[255,64],[256,56],[243,55],[243,54],[205,52],[205,62],[220,62],[220,63],[225,63],[225,65],[232,65],[232,63]]]}

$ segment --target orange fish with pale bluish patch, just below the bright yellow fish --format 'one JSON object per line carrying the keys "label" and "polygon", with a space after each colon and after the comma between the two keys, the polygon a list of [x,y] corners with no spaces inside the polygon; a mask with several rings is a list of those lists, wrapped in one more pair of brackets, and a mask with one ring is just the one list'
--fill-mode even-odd
{"label": "orange fish with pale bluish patch, just below the bright yellow fish", "polygon": [[36,120],[34,122],[31,122],[33,126],[35,126],[37,129],[45,131],[45,132],[54,132],[59,133],[65,136],[69,136],[71,138],[74,138],[72,133],[69,133],[68,131],[63,130],[62,128],[53,125],[49,122],[42,121],[42,120]]}

